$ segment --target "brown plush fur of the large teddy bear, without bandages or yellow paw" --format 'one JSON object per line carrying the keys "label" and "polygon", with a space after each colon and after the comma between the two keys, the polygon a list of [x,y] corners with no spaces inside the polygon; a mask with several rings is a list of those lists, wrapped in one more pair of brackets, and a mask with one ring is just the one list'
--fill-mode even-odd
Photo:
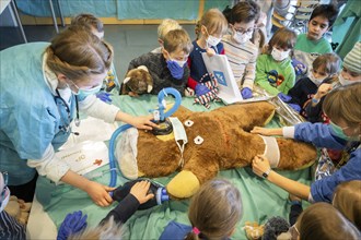
{"label": "brown plush fur of the large teddy bear, without bandages or yellow paw", "polygon": [[[232,105],[210,112],[193,112],[180,107],[175,117],[185,127],[188,143],[184,152],[182,170],[191,171],[200,183],[217,176],[221,169],[251,165],[256,155],[264,154],[265,143],[251,131],[255,125],[264,125],[275,112],[268,103]],[[197,145],[194,139],[205,141]],[[299,169],[316,159],[316,149],[310,144],[293,140],[278,139],[280,148],[279,169]],[[161,141],[150,132],[139,132],[138,169],[148,177],[167,176],[180,170],[180,153],[174,140]]]}

